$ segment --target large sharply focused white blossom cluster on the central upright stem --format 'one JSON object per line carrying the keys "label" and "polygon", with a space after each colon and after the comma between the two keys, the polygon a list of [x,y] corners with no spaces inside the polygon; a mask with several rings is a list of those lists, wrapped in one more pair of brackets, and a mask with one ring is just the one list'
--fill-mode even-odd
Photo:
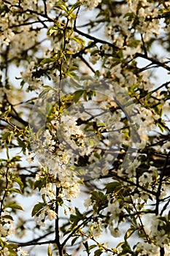
{"label": "large sharply focused white blossom cluster on the central upright stem", "polygon": [[[88,139],[77,126],[76,118],[63,116],[59,121],[54,118],[52,127],[52,130],[45,130],[43,143],[39,140],[36,157],[43,168],[57,177],[56,185],[62,187],[64,197],[77,197],[80,192],[77,182],[80,178],[74,170],[74,157],[90,152]],[[37,178],[42,178],[41,173]],[[41,193],[51,199],[55,197],[52,184],[47,184]]]}

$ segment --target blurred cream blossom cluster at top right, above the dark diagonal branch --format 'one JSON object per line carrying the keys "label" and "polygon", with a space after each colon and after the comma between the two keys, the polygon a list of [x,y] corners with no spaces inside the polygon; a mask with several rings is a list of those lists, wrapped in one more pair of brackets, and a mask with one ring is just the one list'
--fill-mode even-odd
{"label": "blurred cream blossom cluster at top right, above the dark diagonal branch", "polygon": [[[160,33],[160,20],[157,18],[159,9],[154,4],[149,1],[131,1],[129,5],[117,5],[115,8],[118,8],[115,13],[120,12],[121,15],[110,18],[106,34],[118,45],[130,46],[128,49],[133,51],[135,40],[132,40],[131,36],[134,31],[136,31],[136,35],[143,34],[146,41],[153,34],[158,37]],[[161,6],[159,8],[161,9]],[[137,43],[137,45],[139,44]],[[140,48],[136,50],[139,51]]]}

